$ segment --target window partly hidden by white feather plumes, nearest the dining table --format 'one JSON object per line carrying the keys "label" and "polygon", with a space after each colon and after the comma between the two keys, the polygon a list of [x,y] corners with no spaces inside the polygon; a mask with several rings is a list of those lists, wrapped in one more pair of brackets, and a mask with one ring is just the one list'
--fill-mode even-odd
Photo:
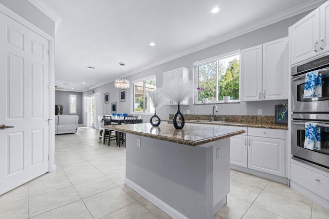
{"label": "window partly hidden by white feather plumes, nearest the dining table", "polygon": [[154,91],[156,89],[156,77],[153,76],[148,79],[137,81],[133,83],[133,97],[132,106],[134,113],[154,113],[154,108],[148,98],[147,91]]}

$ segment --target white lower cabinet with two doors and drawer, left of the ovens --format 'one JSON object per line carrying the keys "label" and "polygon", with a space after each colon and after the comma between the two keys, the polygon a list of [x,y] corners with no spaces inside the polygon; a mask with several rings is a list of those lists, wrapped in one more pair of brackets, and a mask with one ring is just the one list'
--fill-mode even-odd
{"label": "white lower cabinet with two doors and drawer, left of the ovens", "polygon": [[285,130],[236,128],[248,135],[231,137],[231,164],[285,177]]}

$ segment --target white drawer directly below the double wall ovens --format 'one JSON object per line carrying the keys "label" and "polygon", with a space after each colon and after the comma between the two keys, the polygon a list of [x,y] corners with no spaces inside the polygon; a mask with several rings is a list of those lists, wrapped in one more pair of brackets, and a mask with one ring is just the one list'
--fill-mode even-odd
{"label": "white drawer directly below the double wall ovens", "polygon": [[329,200],[329,177],[291,163],[290,180]]}

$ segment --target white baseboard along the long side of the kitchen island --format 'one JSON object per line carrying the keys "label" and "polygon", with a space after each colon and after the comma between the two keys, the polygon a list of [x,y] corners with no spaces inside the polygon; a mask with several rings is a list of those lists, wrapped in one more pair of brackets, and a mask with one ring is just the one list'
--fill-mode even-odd
{"label": "white baseboard along the long side of the kitchen island", "polygon": [[129,186],[130,188],[135,190],[137,193],[139,193],[141,196],[146,198],[149,202],[151,202],[153,205],[155,205],[156,207],[158,207],[159,209],[161,209],[162,211],[167,213],[172,218],[174,218],[174,219],[176,219],[176,218],[188,219],[187,216],[185,216],[184,214],[181,214],[179,211],[177,211],[176,209],[174,209],[173,207],[171,207],[167,203],[163,202],[162,200],[160,200],[158,197],[156,197],[155,195],[153,195],[149,191],[143,189],[142,187],[140,187],[136,183],[132,182],[128,178],[124,179],[124,184],[126,184],[127,186]]}

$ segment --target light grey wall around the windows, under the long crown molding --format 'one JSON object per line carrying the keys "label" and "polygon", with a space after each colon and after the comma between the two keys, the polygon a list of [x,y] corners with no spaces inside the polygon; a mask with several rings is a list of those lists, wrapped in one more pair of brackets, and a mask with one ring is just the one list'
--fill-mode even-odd
{"label": "light grey wall around the windows, under the long crown molding", "polygon": [[[209,57],[231,52],[237,49],[245,49],[252,46],[260,45],[269,41],[273,41],[278,38],[288,36],[288,27],[295,24],[307,13],[302,13],[294,17],[285,19],[284,21],[269,25],[267,27],[252,31],[250,33],[237,36],[228,41],[220,44],[208,47],[203,50],[179,57],[173,61],[155,66],[153,68],[141,71],[139,73],[128,76],[127,78],[134,81],[138,78],[148,75],[156,74],[157,86],[162,85],[162,72],[172,70],[179,67],[187,67],[190,69],[190,78],[192,78],[193,62],[200,61]],[[288,75],[287,75],[288,78]],[[114,88],[114,83],[109,83],[94,89],[97,92],[110,92],[110,102],[118,102],[118,111],[121,113],[130,112],[130,89],[127,90],[127,101],[120,103],[119,91]],[[86,91],[83,95],[90,95],[92,90]],[[113,96],[114,95],[114,96]],[[242,102],[239,104],[216,104],[218,107],[219,115],[257,115],[257,109],[262,109],[263,115],[275,115],[275,105],[281,104],[281,101],[262,101],[262,102]],[[107,106],[104,107],[104,111],[108,113]],[[212,105],[192,105],[181,106],[182,110],[189,109],[191,114],[209,114],[212,110]],[[177,110],[177,106],[163,106],[157,110],[157,114],[160,118],[168,118],[169,114],[174,114]],[[147,118],[150,116],[143,116],[147,122]]]}

